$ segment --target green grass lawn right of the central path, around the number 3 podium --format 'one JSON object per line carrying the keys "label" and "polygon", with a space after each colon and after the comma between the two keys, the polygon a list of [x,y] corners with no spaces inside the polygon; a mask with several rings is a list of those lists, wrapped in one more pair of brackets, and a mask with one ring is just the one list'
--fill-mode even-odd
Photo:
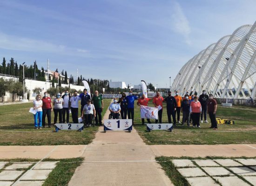
{"label": "green grass lawn right of the central path, around the number 3 podium", "polygon": [[[153,106],[153,104],[150,102],[149,106]],[[165,106],[166,104],[164,104],[162,122],[168,123]],[[152,131],[149,133],[146,131],[146,126],[141,125],[139,106],[135,106],[135,129],[148,145],[255,144],[256,110],[236,108],[220,106],[217,108],[217,118],[235,120],[235,125],[219,124],[217,131],[209,129],[210,123],[200,123],[200,129],[191,126],[176,126],[172,132]],[[250,107],[248,108],[250,109]],[[209,121],[208,114],[207,117]],[[182,116],[180,120],[182,121]],[[151,120],[151,122],[154,123],[155,120]]]}

